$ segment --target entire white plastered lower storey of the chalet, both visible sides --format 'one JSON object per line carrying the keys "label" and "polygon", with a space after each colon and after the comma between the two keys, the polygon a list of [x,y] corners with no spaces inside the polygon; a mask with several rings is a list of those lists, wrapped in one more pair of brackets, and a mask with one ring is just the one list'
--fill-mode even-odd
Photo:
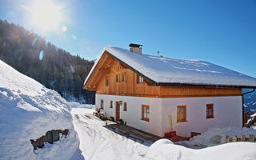
{"label": "entire white plastered lower storey of the chalet, both visible sides", "polygon": [[[131,96],[115,96],[96,94],[96,107],[100,108],[101,99],[104,101],[106,116],[116,118],[116,103],[122,101],[120,118],[139,130],[163,136],[170,131],[168,115],[172,115],[173,130],[180,136],[190,136],[190,132],[202,133],[212,126],[242,127],[242,96],[205,97],[205,98],[142,98]],[[110,108],[110,101],[113,108]],[[127,102],[127,111],[123,104]],[[206,104],[214,104],[214,118],[206,118]],[[150,106],[150,122],[143,121],[142,105]],[[177,106],[186,106],[187,122],[177,123]]]}

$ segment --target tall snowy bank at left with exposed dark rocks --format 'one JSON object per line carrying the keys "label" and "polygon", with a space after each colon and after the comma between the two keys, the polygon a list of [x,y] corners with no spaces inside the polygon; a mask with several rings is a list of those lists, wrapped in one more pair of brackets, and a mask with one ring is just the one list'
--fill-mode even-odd
{"label": "tall snowy bank at left with exposed dark rocks", "polygon": [[[53,129],[70,133],[33,152],[30,139]],[[66,100],[0,60],[0,159],[70,159],[78,144]]]}

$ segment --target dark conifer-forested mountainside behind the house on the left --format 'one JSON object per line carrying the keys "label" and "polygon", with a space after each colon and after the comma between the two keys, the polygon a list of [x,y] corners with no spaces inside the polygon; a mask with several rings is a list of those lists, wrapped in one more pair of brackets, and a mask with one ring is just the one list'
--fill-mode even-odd
{"label": "dark conifer-forested mountainside behind the house on the left", "polygon": [[95,101],[94,92],[82,89],[94,62],[71,55],[23,26],[0,20],[0,59],[68,101]]}

